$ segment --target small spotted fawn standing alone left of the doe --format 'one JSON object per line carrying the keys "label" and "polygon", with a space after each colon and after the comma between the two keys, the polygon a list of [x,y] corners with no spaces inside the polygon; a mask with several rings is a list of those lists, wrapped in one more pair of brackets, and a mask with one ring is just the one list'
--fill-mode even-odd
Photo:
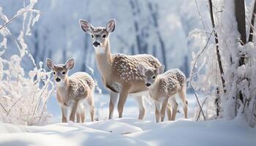
{"label": "small spotted fawn standing alone left of the doe", "polygon": [[85,121],[84,105],[90,108],[91,121],[94,121],[94,80],[86,72],[76,72],[70,77],[68,71],[75,66],[75,59],[70,59],[66,64],[53,64],[49,58],[46,60],[47,66],[53,71],[53,77],[56,81],[57,101],[61,107],[62,122],[67,123],[67,113],[71,107],[69,120],[75,122]]}

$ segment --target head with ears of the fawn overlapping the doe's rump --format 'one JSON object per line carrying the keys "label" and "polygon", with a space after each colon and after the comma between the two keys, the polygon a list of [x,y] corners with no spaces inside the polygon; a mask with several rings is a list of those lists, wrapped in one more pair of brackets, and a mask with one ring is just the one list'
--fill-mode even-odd
{"label": "head with ears of the fawn overlapping the doe's rump", "polygon": [[148,67],[146,69],[143,65],[139,64],[138,70],[140,71],[141,74],[144,75],[146,86],[150,87],[151,85],[154,85],[154,83],[156,82],[157,76],[164,72],[165,66],[159,66],[157,69],[151,67]]}

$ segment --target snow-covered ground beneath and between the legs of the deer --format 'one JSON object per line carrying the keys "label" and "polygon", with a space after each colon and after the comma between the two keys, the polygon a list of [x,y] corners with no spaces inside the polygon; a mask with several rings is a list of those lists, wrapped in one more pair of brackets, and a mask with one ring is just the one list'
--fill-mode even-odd
{"label": "snow-covered ground beneath and between the legs of the deer", "polygon": [[[256,145],[256,128],[247,126],[242,118],[193,121],[196,103],[192,95],[188,96],[191,119],[181,118],[181,110],[178,120],[164,123],[155,122],[153,110],[147,110],[146,120],[137,120],[138,107],[132,98],[124,108],[124,118],[105,120],[108,96],[95,96],[95,99],[97,122],[59,123],[59,106],[53,97],[48,103],[48,111],[53,113],[52,124],[15,126],[0,123],[0,145]],[[147,103],[147,109],[150,107]]]}

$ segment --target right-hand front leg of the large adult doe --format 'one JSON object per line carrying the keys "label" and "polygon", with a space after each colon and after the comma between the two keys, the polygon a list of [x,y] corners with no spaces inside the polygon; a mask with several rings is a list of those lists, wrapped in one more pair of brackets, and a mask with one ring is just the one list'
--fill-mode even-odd
{"label": "right-hand front leg of the large adult doe", "polygon": [[121,92],[119,95],[119,101],[118,101],[118,114],[119,114],[119,118],[122,118],[123,116],[123,110],[124,110],[124,104],[125,101],[127,101],[127,96],[129,93],[129,86],[122,86],[121,88]]}

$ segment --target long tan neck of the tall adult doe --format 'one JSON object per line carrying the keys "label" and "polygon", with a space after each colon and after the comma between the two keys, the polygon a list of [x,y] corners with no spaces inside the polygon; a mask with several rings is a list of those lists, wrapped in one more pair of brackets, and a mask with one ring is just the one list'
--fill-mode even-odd
{"label": "long tan neck of the tall adult doe", "polygon": [[[94,49],[96,53],[97,66],[98,66],[99,72],[102,74],[103,77],[110,75],[113,60],[112,60],[112,55],[110,53],[109,39],[106,47],[94,48]],[[101,50],[97,50],[97,49],[101,49]]]}

